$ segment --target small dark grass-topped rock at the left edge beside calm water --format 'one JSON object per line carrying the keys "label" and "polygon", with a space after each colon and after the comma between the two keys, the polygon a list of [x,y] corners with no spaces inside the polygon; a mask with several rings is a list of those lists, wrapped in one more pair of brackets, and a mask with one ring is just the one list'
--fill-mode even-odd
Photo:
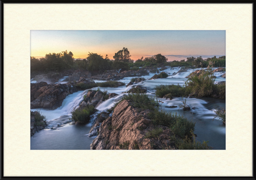
{"label": "small dark grass-topped rock at the left edge beside calm water", "polygon": [[30,111],[30,136],[33,136],[37,131],[45,128],[47,125],[44,120],[36,122],[36,116],[40,115],[37,111]]}

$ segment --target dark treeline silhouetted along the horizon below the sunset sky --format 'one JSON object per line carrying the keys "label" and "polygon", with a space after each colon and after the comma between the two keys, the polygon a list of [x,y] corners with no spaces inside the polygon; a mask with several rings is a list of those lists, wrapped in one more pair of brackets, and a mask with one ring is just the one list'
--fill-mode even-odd
{"label": "dark treeline silhouetted along the horizon below the sunset sky", "polygon": [[90,53],[86,59],[74,59],[72,52],[62,51],[61,53],[49,53],[45,57],[37,59],[35,57],[30,57],[30,68],[31,71],[60,71],[65,69],[84,69],[92,72],[105,72],[106,70],[120,69],[123,70],[138,70],[139,67],[146,66],[196,66],[198,67],[207,67],[209,64],[214,64],[214,67],[225,67],[226,66],[226,56],[221,56],[216,58],[203,59],[200,57],[188,57],[187,61],[170,61],[161,55],[156,54],[152,57],[141,57],[140,59],[132,60],[130,52],[127,48],[115,53],[113,56],[114,60],[110,60],[108,55],[103,58],[102,55],[97,53]]}

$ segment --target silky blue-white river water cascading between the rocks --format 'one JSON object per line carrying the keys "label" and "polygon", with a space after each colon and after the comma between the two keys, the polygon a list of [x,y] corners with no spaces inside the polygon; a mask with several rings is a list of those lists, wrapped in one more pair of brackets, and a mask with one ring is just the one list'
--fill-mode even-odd
{"label": "silky blue-white river water cascading between the rocks", "polygon": [[[160,68],[158,68],[160,69]],[[201,68],[197,68],[201,69]],[[148,80],[153,73],[149,73],[148,76],[143,76],[146,81],[138,83],[147,88],[147,94],[150,96],[155,96],[154,87],[160,84],[180,84],[183,85],[185,78],[192,71],[197,69],[188,69],[188,72],[181,72],[173,76],[168,76],[167,78],[160,78],[155,80]],[[180,67],[176,68],[167,68],[164,70],[169,75],[172,75],[174,72],[178,72]],[[160,71],[162,72],[162,71]],[[215,83],[220,81],[226,81],[226,78],[222,78],[225,72],[217,72],[215,76]],[[120,81],[124,83],[129,83],[132,77],[125,77]],[[59,82],[62,79],[59,80]],[[95,82],[103,82],[96,80]],[[31,83],[33,79],[31,79]],[[71,117],[71,111],[82,102],[83,96],[87,94],[87,90],[78,91],[73,94],[68,95],[62,105],[55,110],[46,110],[41,109],[40,111],[48,119],[45,129],[35,133],[30,139],[30,148],[31,149],[90,149],[90,144],[96,136],[89,137],[89,131],[92,127],[93,122],[95,121],[97,114],[101,111],[105,111],[106,108],[111,108],[115,102],[117,102],[121,97],[124,91],[131,89],[133,86],[138,85],[137,83],[125,87],[120,86],[118,88],[111,87],[99,87],[102,91],[108,90],[109,93],[118,94],[117,97],[110,98],[102,102],[96,109],[99,111],[91,116],[90,123],[87,125],[75,125],[74,122],[71,122],[69,118]],[[95,88],[97,89],[97,87]],[[213,149],[226,149],[226,126],[218,120],[212,120],[215,113],[213,112],[214,108],[222,107],[226,109],[225,100],[212,99],[212,98],[186,98],[186,101],[190,107],[195,107],[196,109],[191,109],[189,112],[194,112],[195,114],[184,112],[179,110],[179,108],[166,108],[165,106],[181,104],[181,97],[174,97],[172,100],[166,100],[164,98],[158,98],[158,100],[163,101],[161,108],[164,111],[172,112],[183,115],[188,119],[192,119],[196,122],[194,133],[197,135],[196,139],[200,142],[204,140],[209,140],[209,146]],[[36,109],[31,109],[31,111],[36,111]],[[54,129],[51,129],[54,128]]]}

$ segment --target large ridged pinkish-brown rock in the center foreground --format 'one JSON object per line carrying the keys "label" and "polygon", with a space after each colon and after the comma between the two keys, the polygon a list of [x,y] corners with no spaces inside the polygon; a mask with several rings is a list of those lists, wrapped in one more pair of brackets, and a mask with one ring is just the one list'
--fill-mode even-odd
{"label": "large ridged pinkish-brown rock in the center foreground", "polygon": [[166,126],[158,126],[163,133],[157,137],[145,138],[148,131],[155,129],[146,118],[149,110],[138,111],[130,106],[129,100],[119,103],[112,117],[104,120],[99,135],[92,141],[91,149],[177,149],[169,139],[173,135]]}

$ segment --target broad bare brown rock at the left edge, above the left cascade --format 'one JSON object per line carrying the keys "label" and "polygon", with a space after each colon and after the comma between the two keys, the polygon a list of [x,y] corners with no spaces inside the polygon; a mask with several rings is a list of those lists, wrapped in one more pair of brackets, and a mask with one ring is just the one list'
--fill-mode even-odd
{"label": "broad bare brown rock at the left edge, above the left cascade", "polygon": [[[56,109],[61,106],[63,100],[69,94],[76,91],[70,83],[65,84],[45,84],[30,83],[30,108],[51,108]],[[32,98],[33,97],[33,98]]]}

